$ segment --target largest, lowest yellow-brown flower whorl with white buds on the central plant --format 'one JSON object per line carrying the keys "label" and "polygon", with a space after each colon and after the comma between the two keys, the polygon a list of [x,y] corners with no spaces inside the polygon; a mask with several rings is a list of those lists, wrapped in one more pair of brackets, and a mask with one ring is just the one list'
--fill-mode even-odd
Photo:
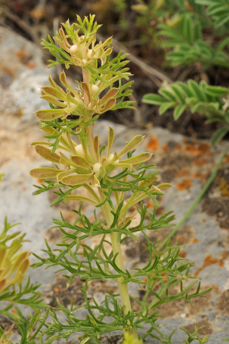
{"label": "largest, lowest yellow-brown flower whorl with white buds on the central plant", "polygon": [[[99,137],[94,137],[94,150],[96,152],[96,162],[92,161],[90,155],[84,155],[81,144],[74,144],[75,154],[70,156],[70,159],[66,157],[62,152],[60,155],[57,153],[52,154],[51,150],[37,144],[35,146],[36,152],[46,160],[54,163],[60,163],[66,165],[67,169],[59,170],[48,167],[41,167],[30,171],[30,175],[37,179],[50,179],[56,178],[56,182],[60,181],[66,185],[80,185],[84,183],[91,183],[92,186],[100,186],[102,178],[110,175],[110,173],[117,168],[129,168],[131,171],[135,171],[133,165],[140,164],[151,158],[151,153],[140,153],[135,157],[121,160],[125,154],[130,152],[133,148],[138,146],[143,140],[143,136],[135,136],[126,147],[119,152],[110,153],[112,142],[114,140],[114,130],[110,127],[108,134],[108,146],[106,157],[103,156],[103,150],[99,149]],[[72,141],[73,143],[73,141]]]}

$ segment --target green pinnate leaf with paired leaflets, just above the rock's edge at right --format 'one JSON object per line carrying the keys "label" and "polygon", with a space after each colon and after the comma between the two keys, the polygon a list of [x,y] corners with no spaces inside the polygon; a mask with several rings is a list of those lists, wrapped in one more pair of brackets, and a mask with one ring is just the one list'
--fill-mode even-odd
{"label": "green pinnate leaf with paired leaflets, just above the rock's edge at right", "polygon": [[226,99],[222,97],[229,94],[228,88],[209,86],[203,80],[198,84],[190,79],[187,84],[180,81],[173,84],[164,84],[158,90],[158,93],[160,96],[147,94],[147,97],[143,97],[143,101],[160,105],[160,115],[168,109],[174,108],[173,116],[177,120],[185,110],[190,110],[192,113],[199,112],[199,114],[207,117],[208,123],[220,122],[225,125],[223,128],[218,129],[211,138],[214,144],[226,135],[228,131],[228,114],[227,107],[224,108]]}

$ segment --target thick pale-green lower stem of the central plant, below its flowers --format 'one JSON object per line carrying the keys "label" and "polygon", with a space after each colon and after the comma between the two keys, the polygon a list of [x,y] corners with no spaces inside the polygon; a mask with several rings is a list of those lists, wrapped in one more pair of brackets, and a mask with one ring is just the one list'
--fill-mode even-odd
{"label": "thick pale-green lower stem of the central plant, below its flowers", "polygon": [[[103,189],[99,187],[99,193],[101,197],[101,201],[104,200],[105,195],[103,193]],[[113,222],[113,215],[111,214],[111,207],[108,202],[106,202],[103,206],[103,214],[105,217],[105,220],[107,222],[107,226],[110,227]],[[124,264],[123,264],[123,256],[122,256],[122,250],[121,250],[121,245],[120,241],[117,241],[118,238],[118,233],[112,232],[110,233],[110,238],[111,238],[111,245],[112,245],[112,250],[113,250],[113,255],[115,256],[116,253],[118,252],[118,255],[115,259],[115,264],[119,269],[121,269],[124,272]],[[123,312],[126,315],[128,312],[132,312],[131,304],[130,304],[130,298],[129,298],[129,292],[128,292],[128,286],[127,283],[122,284],[123,282],[123,277],[116,278],[115,281],[118,283],[118,289],[120,293],[120,297],[122,300],[122,305],[123,307]],[[135,340],[138,341],[138,333],[137,329],[132,333],[132,335],[135,337]]]}

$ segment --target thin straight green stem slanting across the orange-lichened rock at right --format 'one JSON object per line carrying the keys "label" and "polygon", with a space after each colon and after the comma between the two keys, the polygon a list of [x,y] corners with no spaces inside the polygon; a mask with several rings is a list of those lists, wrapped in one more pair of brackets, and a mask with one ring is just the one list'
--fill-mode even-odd
{"label": "thin straight green stem slanting across the orange-lichened rock at right", "polygon": [[183,218],[181,219],[181,221],[178,223],[178,225],[176,225],[176,227],[172,230],[172,232],[162,241],[162,243],[157,247],[157,250],[159,251],[164,245],[167,244],[168,240],[171,239],[174,234],[176,234],[176,232],[180,229],[180,227],[183,225],[183,223],[186,221],[186,219],[188,218],[188,216],[192,213],[192,211],[194,210],[194,208],[196,207],[196,205],[199,203],[199,201],[201,200],[201,198],[204,196],[205,192],[207,191],[208,187],[211,185],[211,183],[213,182],[217,172],[220,169],[220,166],[222,165],[224,158],[226,157],[226,154],[228,152],[228,147],[226,147],[226,149],[224,150],[224,152],[221,155],[221,158],[219,159],[218,164],[216,165],[215,169],[213,170],[212,174],[210,175],[210,177],[208,178],[207,182],[205,183],[203,189],[201,190],[201,192],[198,194],[198,196],[196,197],[195,201],[193,202],[193,204],[191,205],[191,207],[188,209],[187,213],[183,216]]}

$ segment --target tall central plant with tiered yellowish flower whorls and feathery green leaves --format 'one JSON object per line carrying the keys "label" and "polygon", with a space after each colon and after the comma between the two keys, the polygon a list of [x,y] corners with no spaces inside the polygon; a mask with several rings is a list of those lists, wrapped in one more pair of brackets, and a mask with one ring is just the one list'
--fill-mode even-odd
{"label": "tall central plant with tiered yellowish flower whorls and feathery green leaves", "polygon": [[[58,254],[53,251],[48,243],[47,258],[39,258],[40,262],[33,266],[48,265],[60,266],[59,271],[67,271],[68,288],[76,276],[85,281],[82,289],[85,303],[66,308],[58,300],[58,308],[67,318],[67,324],[62,324],[55,310],[50,310],[53,323],[46,325],[43,334],[47,335],[48,343],[56,338],[66,338],[73,333],[83,332],[81,344],[90,341],[99,343],[100,335],[114,330],[127,331],[126,341],[139,342],[148,335],[158,338],[162,343],[171,343],[171,335],[167,338],[158,329],[156,324],[157,307],[172,300],[186,299],[203,295],[200,284],[194,293],[190,289],[196,281],[183,288],[183,280],[187,280],[190,266],[179,257],[180,248],[171,246],[169,241],[162,252],[157,253],[157,242],[151,243],[146,230],[162,227],[171,227],[174,216],[171,212],[156,217],[156,207],[159,206],[157,195],[162,195],[161,190],[170,187],[168,183],[155,186],[158,169],[154,165],[144,164],[151,158],[148,152],[133,156],[135,148],[144,139],[137,135],[119,152],[114,151],[114,130],[109,128],[107,145],[100,147],[99,136],[93,134],[93,122],[99,115],[107,110],[118,108],[133,108],[132,101],[126,101],[125,96],[131,94],[126,90],[133,83],[129,81],[128,68],[124,68],[128,61],[127,55],[120,52],[111,60],[112,38],[104,43],[96,44],[96,31],[100,27],[96,22],[93,25],[94,15],[88,20],[85,17],[78,23],[70,25],[67,21],[56,33],[54,40],[57,47],[49,37],[49,42],[43,41],[43,46],[58,59],[50,61],[50,67],[58,63],[77,65],[82,68],[83,82],[77,82],[77,87],[69,85],[64,72],[60,74],[60,81],[65,90],[58,86],[50,77],[51,86],[42,88],[42,98],[49,101],[50,109],[36,112],[41,120],[40,127],[45,131],[48,141],[34,142],[35,150],[44,159],[53,162],[53,168],[43,167],[30,171],[34,178],[42,179],[42,186],[36,186],[34,194],[53,190],[57,194],[51,206],[61,201],[68,203],[70,200],[88,202],[95,206],[94,220],[81,213],[81,206],[76,213],[73,224],[68,223],[61,214],[61,219],[54,219],[55,227],[63,233]],[[64,31],[65,30],[65,31]],[[127,80],[122,84],[122,79]],[[116,85],[117,84],[117,85]],[[72,116],[77,116],[72,117]],[[78,144],[75,137],[78,137]],[[48,148],[50,147],[50,148]],[[59,167],[60,164],[63,167]],[[60,169],[61,168],[61,169]],[[79,187],[86,189],[90,197],[76,195],[74,190]],[[58,190],[58,191],[56,191]],[[150,197],[154,206],[148,211],[142,203]],[[140,214],[139,224],[131,226],[128,216],[130,209]],[[96,209],[99,210],[101,219],[97,219]],[[73,230],[73,232],[72,232]],[[124,268],[122,243],[130,236],[137,240],[137,233],[144,235],[149,253],[149,261],[144,267],[136,267],[132,272]],[[107,240],[107,236],[110,240]],[[85,239],[90,236],[100,236],[100,244],[92,249]],[[70,241],[69,241],[70,239]],[[104,243],[108,243],[112,251],[107,252]],[[93,279],[113,279],[117,282],[119,295],[108,293],[104,303],[93,303],[87,297],[87,282]],[[142,301],[129,295],[128,283],[137,283],[142,286],[144,298]],[[176,295],[169,295],[169,287],[180,284],[180,291]],[[134,299],[140,306],[134,312],[130,299]],[[190,302],[190,301],[189,301]],[[77,310],[84,307],[87,310],[86,319],[77,316]],[[94,310],[97,310],[95,312]],[[106,317],[109,320],[107,320]],[[148,329],[139,335],[137,329]],[[197,337],[195,337],[197,336]],[[187,343],[198,339],[199,343],[207,340],[198,337],[196,330],[189,335]],[[205,340],[205,341],[204,341]]]}

